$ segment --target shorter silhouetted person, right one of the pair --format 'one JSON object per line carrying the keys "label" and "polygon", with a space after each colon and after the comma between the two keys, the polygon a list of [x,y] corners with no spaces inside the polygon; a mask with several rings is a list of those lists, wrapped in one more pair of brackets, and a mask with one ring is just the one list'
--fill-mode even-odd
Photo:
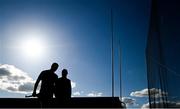
{"label": "shorter silhouetted person, right one of the pair", "polygon": [[55,82],[55,97],[62,103],[67,103],[71,98],[71,80],[67,75],[68,71],[63,69],[62,77]]}

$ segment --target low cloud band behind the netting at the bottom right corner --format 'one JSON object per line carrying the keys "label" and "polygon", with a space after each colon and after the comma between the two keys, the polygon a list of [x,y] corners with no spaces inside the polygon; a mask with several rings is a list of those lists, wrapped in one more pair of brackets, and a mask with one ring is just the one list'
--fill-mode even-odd
{"label": "low cloud band behind the netting at the bottom right corner", "polygon": [[[165,104],[168,105],[168,107],[171,107],[171,108],[177,108],[177,107],[180,107],[180,102],[175,102],[175,101],[167,101],[167,102],[164,102]],[[164,103],[163,102],[155,102],[155,103],[151,103],[151,106],[154,107],[154,108],[163,108],[164,106]],[[141,106],[142,109],[144,108],[149,108],[149,103],[146,103],[146,104],[143,104]]]}

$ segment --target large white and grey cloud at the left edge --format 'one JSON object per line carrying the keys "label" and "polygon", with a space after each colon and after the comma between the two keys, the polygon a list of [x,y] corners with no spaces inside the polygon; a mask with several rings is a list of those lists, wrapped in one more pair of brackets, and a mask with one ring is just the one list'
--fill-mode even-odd
{"label": "large white and grey cloud at the left edge", "polygon": [[0,89],[14,93],[30,93],[33,79],[13,65],[0,64]]}

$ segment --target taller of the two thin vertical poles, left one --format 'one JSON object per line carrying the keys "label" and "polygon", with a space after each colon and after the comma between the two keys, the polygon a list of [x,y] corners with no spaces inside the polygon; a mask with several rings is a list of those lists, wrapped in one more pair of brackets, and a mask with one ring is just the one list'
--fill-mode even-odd
{"label": "taller of the two thin vertical poles, left one", "polygon": [[112,97],[114,97],[114,27],[113,27],[113,10],[111,8],[111,61],[112,61]]}

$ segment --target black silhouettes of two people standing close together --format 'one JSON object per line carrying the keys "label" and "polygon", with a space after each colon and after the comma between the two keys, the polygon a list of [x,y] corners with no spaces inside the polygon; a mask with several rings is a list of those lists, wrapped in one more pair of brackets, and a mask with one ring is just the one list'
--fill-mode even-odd
{"label": "black silhouettes of two people standing close together", "polygon": [[[58,69],[58,64],[53,63],[51,69],[42,71],[36,80],[33,90],[33,96],[37,96],[43,105],[48,105],[49,99],[53,98],[53,94],[58,101],[67,101],[71,98],[71,81],[67,79],[68,71],[62,70],[62,77],[58,79],[55,71]],[[41,81],[40,92],[36,94],[39,82]]]}

